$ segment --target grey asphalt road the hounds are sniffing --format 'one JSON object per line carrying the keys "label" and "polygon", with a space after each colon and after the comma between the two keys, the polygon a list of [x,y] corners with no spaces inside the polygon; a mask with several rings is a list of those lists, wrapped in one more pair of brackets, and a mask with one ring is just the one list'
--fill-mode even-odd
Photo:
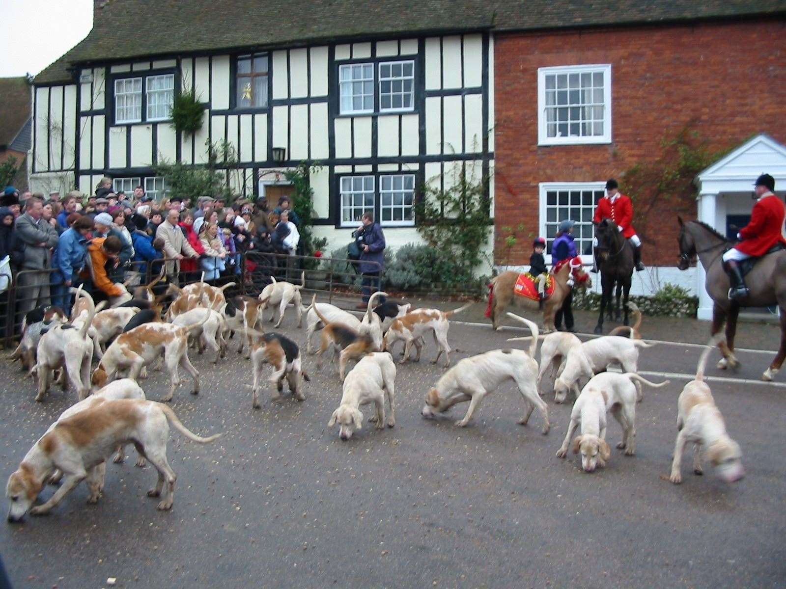
{"label": "grey asphalt road the hounds are sniffing", "polygon": [[[292,324],[288,317],[281,331],[302,341]],[[454,324],[453,360],[507,347],[511,335]],[[699,353],[659,345],[641,354],[640,368],[689,375]],[[0,524],[14,586],[107,587],[109,577],[116,587],[783,586],[783,375],[776,385],[711,382],[742,448],[742,481],[724,485],[708,465],[696,477],[687,455],[684,482],[672,485],[662,475],[684,379],[645,390],[637,455],[612,448],[606,468],[585,474],[575,455],[555,457],[570,407],[547,399],[552,430],[543,436],[537,412],[516,425],[512,384],[487,397],[465,429],[453,422],[466,404],[421,418],[424,393],[443,371],[428,362],[434,354],[429,341],[420,364],[399,368],[394,429],[368,424],[342,442],[327,427],[341,396],[329,364],[317,371],[307,357],[307,401],[263,397],[252,410],[249,361],[232,353],[216,368],[193,353],[202,393],[190,395],[182,375],[172,408],[196,433],[224,435],[201,446],[172,430],[173,510],[159,512],[145,496],[155,470],[136,468],[132,452],[108,465],[97,505],[86,504],[81,485],[49,516]],[[729,376],[757,379],[770,356],[740,359]],[[75,393],[53,390],[37,404],[34,383],[5,362],[0,382],[5,477]],[[142,386],[157,400],[166,382],[153,373]],[[610,441],[620,435],[610,422]]]}

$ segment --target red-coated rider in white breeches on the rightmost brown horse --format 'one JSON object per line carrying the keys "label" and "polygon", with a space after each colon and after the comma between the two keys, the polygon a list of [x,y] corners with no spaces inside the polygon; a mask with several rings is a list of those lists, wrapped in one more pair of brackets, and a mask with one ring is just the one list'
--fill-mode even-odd
{"label": "red-coated rider in white breeches on the rightmost brown horse", "polygon": [[775,191],[775,178],[762,174],[755,182],[756,203],[751,211],[751,221],[737,233],[737,243],[723,254],[723,269],[729,274],[731,288],[729,298],[733,301],[748,295],[747,285],[742,276],[740,262],[747,258],[763,256],[777,243],[786,245],[783,236],[786,208]]}

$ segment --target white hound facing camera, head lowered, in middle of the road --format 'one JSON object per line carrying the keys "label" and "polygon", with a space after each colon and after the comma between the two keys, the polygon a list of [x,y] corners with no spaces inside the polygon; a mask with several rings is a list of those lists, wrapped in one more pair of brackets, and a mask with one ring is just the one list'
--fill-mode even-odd
{"label": "white hound facing camera, head lowered, in middle of the road", "polygon": [[384,429],[385,397],[390,405],[387,426],[395,426],[395,363],[390,353],[374,352],[363,357],[343,382],[341,404],[330,417],[328,426],[339,424],[339,437],[347,441],[354,430],[363,426],[360,406],[374,404],[374,415],[369,421],[376,423],[377,430]]}

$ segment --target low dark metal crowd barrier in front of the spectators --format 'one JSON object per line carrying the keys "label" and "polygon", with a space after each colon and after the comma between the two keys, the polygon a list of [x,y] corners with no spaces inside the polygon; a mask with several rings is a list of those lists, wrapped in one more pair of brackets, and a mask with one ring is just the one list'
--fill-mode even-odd
{"label": "low dark metal crowd barrier in front of the spectators", "polygon": [[[196,260],[196,270],[192,272],[167,273],[167,280],[161,283],[159,290],[163,291],[171,282],[175,282],[180,287],[198,282],[204,269],[202,263],[204,259]],[[233,259],[235,263],[230,264],[230,257],[224,258],[225,269],[219,273],[219,276],[205,280],[207,284],[214,286],[229,282],[236,283],[226,290],[228,297],[236,294],[259,296],[263,288],[272,282],[271,276],[279,282],[286,280],[293,284],[300,284],[301,273],[305,273],[306,279],[303,294],[318,293],[322,295],[321,300],[326,295],[329,302],[344,308],[356,305],[362,297],[363,276],[356,270],[358,262],[343,258],[316,258],[259,251],[246,251],[237,254],[237,258]],[[115,281],[128,281],[127,288],[133,291],[134,287],[150,284],[155,280],[162,266],[167,262],[174,262],[174,259],[159,258],[150,262],[130,262],[117,270]],[[211,262],[215,265],[218,260]],[[364,264],[379,269],[379,278],[369,280],[369,292],[374,292],[384,280],[382,267],[376,262],[364,262]],[[24,315],[37,306],[59,302],[66,314],[71,312],[74,295],[68,292],[68,289],[54,277],[55,275],[56,272],[51,269],[20,270],[14,273],[12,284],[6,291],[0,293],[0,345],[2,347],[9,349],[16,346]],[[89,283],[90,280],[86,282]],[[74,281],[72,286],[78,287],[79,282]],[[310,296],[308,298],[310,299]],[[303,302],[307,305],[307,300]]]}

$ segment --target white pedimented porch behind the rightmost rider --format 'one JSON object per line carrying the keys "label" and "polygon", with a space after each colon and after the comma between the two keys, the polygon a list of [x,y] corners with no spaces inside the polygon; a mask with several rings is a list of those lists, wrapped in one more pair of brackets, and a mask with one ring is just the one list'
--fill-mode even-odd
{"label": "white pedimented porch behind the rightmost rider", "polygon": [[[775,192],[786,193],[786,146],[761,134],[696,176],[699,187],[698,217],[726,234],[729,218],[750,215],[753,208],[753,183],[759,174],[775,178]],[[700,320],[712,319],[712,299],[704,289],[705,273],[701,264],[696,272]]]}

